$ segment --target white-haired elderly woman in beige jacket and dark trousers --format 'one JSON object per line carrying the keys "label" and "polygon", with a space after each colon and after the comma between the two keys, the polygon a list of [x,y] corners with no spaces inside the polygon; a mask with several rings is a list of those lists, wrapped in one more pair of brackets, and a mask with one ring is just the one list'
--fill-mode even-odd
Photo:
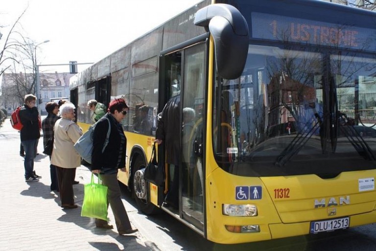
{"label": "white-haired elderly woman in beige jacket and dark trousers", "polygon": [[80,166],[81,158],[73,145],[82,135],[79,126],[74,122],[74,105],[65,103],[59,108],[61,118],[53,128],[54,143],[51,164],[56,166],[57,181],[60,190],[61,207],[76,208],[74,204],[73,183],[76,167]]}

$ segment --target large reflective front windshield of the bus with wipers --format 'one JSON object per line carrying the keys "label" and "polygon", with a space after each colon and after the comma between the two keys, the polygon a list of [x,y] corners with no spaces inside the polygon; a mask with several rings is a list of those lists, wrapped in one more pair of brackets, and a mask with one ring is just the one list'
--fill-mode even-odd
{"label": "large reflective front windshield of the bus with wipers", "polygon": [[242,176],[375,167],[375,55],[309,46],[250,45],[243,74],[216,78],[213,151]]}

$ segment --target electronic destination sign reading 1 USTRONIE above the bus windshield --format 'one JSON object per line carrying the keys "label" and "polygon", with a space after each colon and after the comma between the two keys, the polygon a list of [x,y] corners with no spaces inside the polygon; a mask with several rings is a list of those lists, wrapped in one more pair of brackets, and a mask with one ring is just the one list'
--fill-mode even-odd
{"label": "electronic destination sign reading 1 USTRONIE above the bus windshield", "polygon": [[361,50],[376,49],[376,29],[253,12],[252,37]]}

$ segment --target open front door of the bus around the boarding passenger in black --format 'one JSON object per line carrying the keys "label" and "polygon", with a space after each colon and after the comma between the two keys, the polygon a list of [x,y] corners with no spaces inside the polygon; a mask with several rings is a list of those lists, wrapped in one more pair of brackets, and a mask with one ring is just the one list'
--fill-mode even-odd
{"label": "open front door of the bus around the boarding passenger in black", "polygon": [[[181,161],[179,166],[179,210],[164,208],[176,217],[184,219],[198,230],[204,230],[204,183],[205,161],[204,119],[206,86],[206,44],[164,55],[164,74],[161,77],[161,107],[167,100],[180,94],[180,137]],[[165,98],[164,98],[165,97]],[[162,109],[160,107],[160,110]],[[163,153],[164,154],[164,153]],[[168,190],[172,172],[167,172]]]}

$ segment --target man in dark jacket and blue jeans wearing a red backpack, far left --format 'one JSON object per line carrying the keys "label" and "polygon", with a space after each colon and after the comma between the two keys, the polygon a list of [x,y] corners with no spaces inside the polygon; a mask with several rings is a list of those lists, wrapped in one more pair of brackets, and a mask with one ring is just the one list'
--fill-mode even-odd
{"label": "man in dark jacket and blue jeans wearing a red backpack, far left", "polygon": [[41,137],[39,130],[39,113],[35,106],[37,97],[33,94],[27,94],[24,98],[24,106],[20,110],[20,120],[23,124],[21,129],[21,144],[24,146],[25,159],[25,181],[38,182],[41,176],[34,171],[34,157],[36,141]]}

